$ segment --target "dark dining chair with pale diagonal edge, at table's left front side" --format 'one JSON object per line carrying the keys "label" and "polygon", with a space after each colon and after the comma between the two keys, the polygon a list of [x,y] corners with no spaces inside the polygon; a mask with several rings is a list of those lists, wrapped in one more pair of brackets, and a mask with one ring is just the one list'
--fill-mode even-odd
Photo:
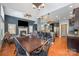
{"label": "dark dining chair with pale diagonal edge, at table's left front side", "polygon": [[22,47],[22,45],[20,44],[20,42],[17,40],[16,37],[13,37],[13,41],[15,42],[16,45],[17,56],[29,56],[28,51]]}

